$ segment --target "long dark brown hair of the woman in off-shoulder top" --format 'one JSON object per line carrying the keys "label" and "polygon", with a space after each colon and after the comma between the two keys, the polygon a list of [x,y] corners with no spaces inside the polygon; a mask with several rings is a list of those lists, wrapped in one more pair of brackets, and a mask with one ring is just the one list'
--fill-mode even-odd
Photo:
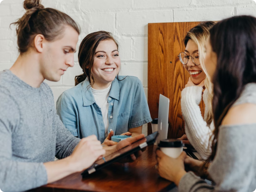
{"label": "long dark brown hair of the woman in off-shoulder top", "polygon": [[210,44],[217,54],[213,77],[212,154],[205,166],[216,155],[219,127],[232,104],[246,84],[256,82],[256,18],[234,16],[218,22],[210,29]]}

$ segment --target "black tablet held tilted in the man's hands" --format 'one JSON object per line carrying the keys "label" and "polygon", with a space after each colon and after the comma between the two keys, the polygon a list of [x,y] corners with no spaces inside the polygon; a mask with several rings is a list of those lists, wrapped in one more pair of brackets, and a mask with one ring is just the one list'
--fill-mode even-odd
{"label": "black tablet held tilted in the man's hands", "polygon": [[156,131],[146,137],[146,139],[147,139],[146,142],[143,142],[144,138],[137,140],[136,142],[134,142],[134,143],[132,143],[114,153],[111,153],[110,155],[108,155],[100,160],[97,160],[91,167],[89,167],[87,170],[85,170],[82,173],[82,176],[86,177],[89,174],[94,173],[95,171],[100,170],[103,167],[105,167],[111,163],[117,162],[120,159],[127,157],[127,156],[147,147],[148,145],[154,144],[156,137],[158,135],[159,135],[159,133],[158,133],[158,131]]}

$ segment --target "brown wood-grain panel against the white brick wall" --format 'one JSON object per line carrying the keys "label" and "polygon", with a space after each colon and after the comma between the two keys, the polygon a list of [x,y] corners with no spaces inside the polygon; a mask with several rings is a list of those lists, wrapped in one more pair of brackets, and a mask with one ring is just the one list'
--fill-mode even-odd
{"label": "brown wood-grain panel against the white brick wall", "polygon": [[[148,105],[152,118],[158,117],[159,94],[170,99],[168,138],[185,134],[181,113],[181,91],[190,74],[179,61],[184,52],[183,39],[199,22],[149,23],[148,24]],[[200,103],[204,115],[204,103]],[[148,134],[152,133],[151,123]]]}

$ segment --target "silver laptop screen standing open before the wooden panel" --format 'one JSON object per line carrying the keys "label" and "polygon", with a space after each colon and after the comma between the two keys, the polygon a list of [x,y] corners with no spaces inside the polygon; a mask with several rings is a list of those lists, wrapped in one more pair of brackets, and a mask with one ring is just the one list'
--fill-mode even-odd
{"label": "silver laptop screen standing open before the wooden panel", "polygon": [[169,98],[164,95],[159,96],[159,108],[158,108],[158,132],[157,144],[160,140],[167,139],[168,133],[168,117],[169,117]]}

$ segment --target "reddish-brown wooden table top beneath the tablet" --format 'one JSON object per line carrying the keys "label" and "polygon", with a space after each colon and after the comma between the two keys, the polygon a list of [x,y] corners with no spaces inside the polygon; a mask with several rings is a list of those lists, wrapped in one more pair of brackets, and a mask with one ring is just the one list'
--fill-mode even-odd
{"label": "reddish-brown wooden table top beneath the tablet", "polygon": [[174,184],[161,178],[156,169],[156,145],[148,146],[132,163],[113,163],[83,179],[75,173],[54,183],[37,188],[37,192],[165,192]]}

